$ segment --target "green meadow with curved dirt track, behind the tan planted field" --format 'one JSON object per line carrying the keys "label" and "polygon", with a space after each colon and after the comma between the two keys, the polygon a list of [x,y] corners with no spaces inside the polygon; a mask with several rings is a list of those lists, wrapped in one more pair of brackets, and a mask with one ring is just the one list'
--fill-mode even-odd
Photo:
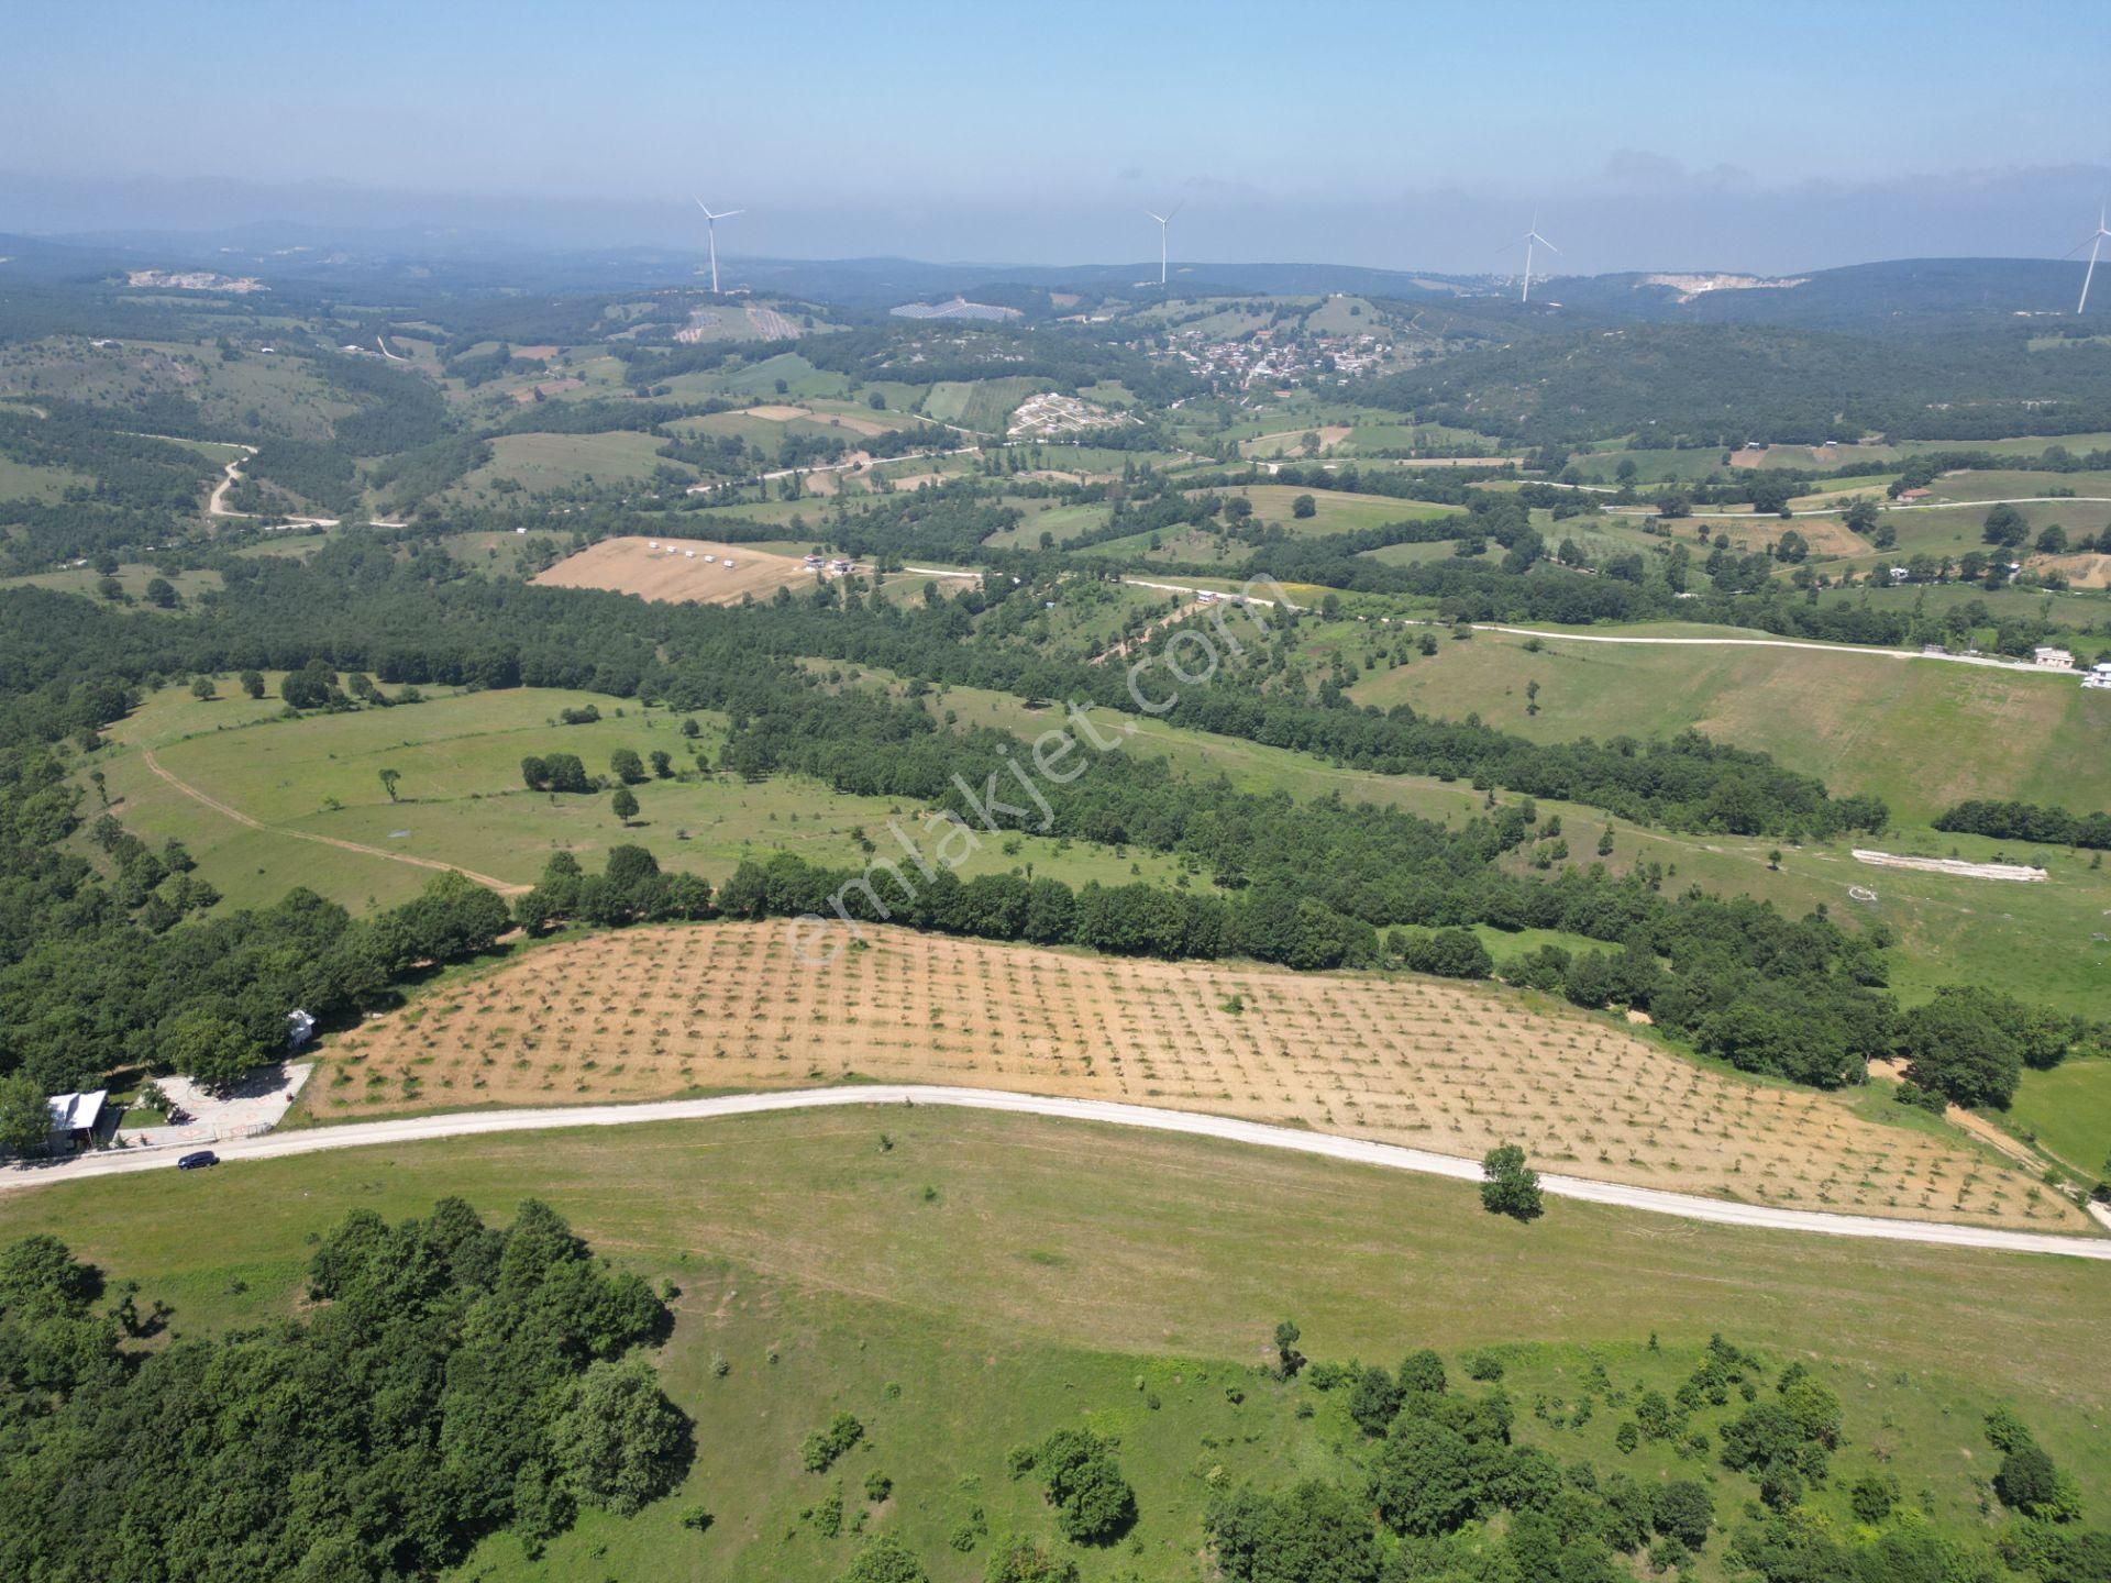
{"label": "green meadow with curved dirt track, behind the tan planted field", "polygon": [[[513,884],[532,884],[551,851],[581,853],[593,867],[597,853],[635,842],[650,846],[663,867],[716,882],[743,857],[777,851],[863,865],[859,832],[887,842],[889,819],[901,819],[910,832],[920,825],[918,808],[889,798],[838,796],[792,777],[747,785],[730,775],[695,775],[695,751],[716,758],[726,735],[724,720],[709,713],[697,716],[701,735],[690,741],[665,709],[625,707],[587,692],[515,688],[279,720],[277,694],[249,701],[228,682],[220,690],[215,703],[194,701],[188,688],[154,694],[110,732],[114,747],[95,766],[108,777],[127,829],[156,842],[179,838],[226,905],[268,905],[304,884],[359,912],[403,901],[431,878],[429,867],[300,836],[458,863]],[[587,703],[602,709],[597,724],[551,724],[559,709]],[[152,747],[169,775],[268,829],[236,823],[169,785],[139,747]],[[640,758],[663,749],[686,773],[640,785],[640,817],[629,827],[614,817],[606,794],[538,794],[521,785],[519,762],[528,754],[578,754],[587,773],[597,775],[608,770],[616,747]],[[382,789],[384,766],[403,777],[401,802]],[[1043,836],[1020,836],[1015,853],[980,851],[961,872],[971,878],[1028,863],[1072,884],[1174,878],[1174,865],[1159,857],[1117,857],[1091,842],[1058,846]]]}

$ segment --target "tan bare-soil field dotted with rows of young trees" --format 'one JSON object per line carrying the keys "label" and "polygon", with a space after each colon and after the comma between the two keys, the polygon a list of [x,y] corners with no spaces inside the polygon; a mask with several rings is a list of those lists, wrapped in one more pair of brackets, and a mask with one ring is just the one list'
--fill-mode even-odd
{"label": "tan bare-soil field dotted with rows of young trees", "polygon": [[[804,967],[783,922],[638,929],[532,952],[344,1034],[321,1121],[646,1100],[861,1074],[1066,1093],[1750,1203],[2081,1231],[1967,1144],[1704,1070],[1465,984],[1098,958],[870,929]],[[1239,1007],[1233,1011],[1231,1007]]]}

